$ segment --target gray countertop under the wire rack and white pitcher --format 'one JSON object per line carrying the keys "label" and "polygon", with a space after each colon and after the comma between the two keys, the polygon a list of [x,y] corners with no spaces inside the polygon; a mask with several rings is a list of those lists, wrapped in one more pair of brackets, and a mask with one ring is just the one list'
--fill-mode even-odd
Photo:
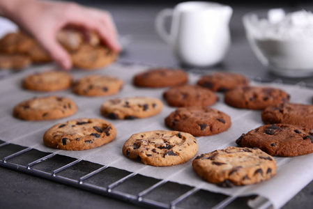
{"label": "gray countertop under the wire rack and white pitcher", "polygon": [[[93,6],[111,11],[119,33],[129,40],[121,59],[165,66],[179,65],[171,49],[154,31],[155,15],[165,6],[105,6],[100,4]],[[266,80],[282,79],[284,82],[294,84],[301,81],[313,84],[312,77],[303,79],[276,77],[268,73],[268,70],[259,63],[247,43],[241,23],[243,14],[254,9],[259,9],[259,7],[234,7],[230,24],[232,45],[229,54],[222,64],[207,70],[231,70]],[[0,167],[0,176],[0,208],[139,208],[130,203],[2,167]],[[312,208],[312,197],[313,183],[310,183],[284,208]]]}

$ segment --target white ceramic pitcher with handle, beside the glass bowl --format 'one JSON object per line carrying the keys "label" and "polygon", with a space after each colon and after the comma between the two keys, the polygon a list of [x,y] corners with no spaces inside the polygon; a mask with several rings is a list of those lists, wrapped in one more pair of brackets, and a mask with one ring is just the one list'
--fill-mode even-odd
{"label": "white ceramic pitcher with handle, beside the glass bowl", "polygon": [[[230,45],[230,6],[208,1],[178,3],[174,9],[158,13],[155,29],[171,45],[181,63],[205,67],[224,59]],[[171,29],[165,29],[165,19],[171,17]]]}

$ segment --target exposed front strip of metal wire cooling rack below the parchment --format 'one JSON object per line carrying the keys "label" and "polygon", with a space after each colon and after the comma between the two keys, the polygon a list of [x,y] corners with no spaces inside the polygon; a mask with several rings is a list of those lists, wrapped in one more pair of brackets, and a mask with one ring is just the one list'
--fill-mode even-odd
{"label": "exposed front strip of metal wire cooling rack below the parchment", "polygon": [[154,208],[249,208],[232,197],[0,140],[0,166]]}

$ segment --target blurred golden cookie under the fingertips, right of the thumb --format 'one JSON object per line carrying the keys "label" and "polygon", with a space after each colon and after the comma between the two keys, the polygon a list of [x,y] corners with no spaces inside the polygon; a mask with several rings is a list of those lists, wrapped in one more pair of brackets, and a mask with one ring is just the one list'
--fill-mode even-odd
{"label": "blurred golden cookie under the fingertips, right of the thumb", "polygon": [[90,44],[84,44],[79,47],[79,50],[72,52],[71,56],[75,67],[94,70],[116,61],[118,53],[103,45],[94,47]]}

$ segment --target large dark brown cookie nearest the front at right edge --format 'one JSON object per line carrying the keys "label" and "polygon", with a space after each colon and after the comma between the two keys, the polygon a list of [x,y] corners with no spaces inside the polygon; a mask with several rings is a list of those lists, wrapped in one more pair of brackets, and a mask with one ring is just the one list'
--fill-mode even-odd
{"label": "large dark brown cookie nearest the front at right edge", "polygon": [[257,147],[269,155],[293,157],[313,153],[313,132],[288,124],[263,125],[236,140],[242,147]]}

